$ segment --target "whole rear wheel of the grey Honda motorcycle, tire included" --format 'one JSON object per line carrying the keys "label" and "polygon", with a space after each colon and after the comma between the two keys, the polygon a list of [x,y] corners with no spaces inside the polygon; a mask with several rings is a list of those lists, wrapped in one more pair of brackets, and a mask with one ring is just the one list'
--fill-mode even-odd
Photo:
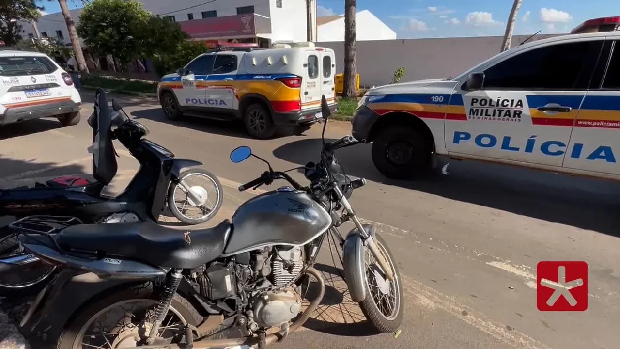
{"label": "whole rear wheel of the grey Honda motorcycle, tire included", "polygon": [[[159,299],[149,284],[125,288],[80,307],[58,338],[58,349],[133,348],[146,344],[151,317]],[[185,343],[187,325],[203,317],[190,302],[175,294],[153,345]]]}

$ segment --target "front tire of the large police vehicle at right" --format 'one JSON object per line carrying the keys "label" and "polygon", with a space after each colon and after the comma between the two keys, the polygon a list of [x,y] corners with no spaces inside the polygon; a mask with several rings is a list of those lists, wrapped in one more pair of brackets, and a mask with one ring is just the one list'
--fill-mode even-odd
{"label": "front tire of the large police vehicle at right", "polygon": [[371,150],[374,166],[391,179],[413,179],[431,168],[432,145],[413,127],[392,125],[379,131]]}

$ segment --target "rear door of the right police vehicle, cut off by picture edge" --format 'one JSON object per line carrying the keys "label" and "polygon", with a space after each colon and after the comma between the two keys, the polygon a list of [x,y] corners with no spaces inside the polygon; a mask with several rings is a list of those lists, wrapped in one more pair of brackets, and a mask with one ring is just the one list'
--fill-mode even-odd
{"label": "rear door of the right police vehicle, cut off by picture edge", "polygon": [[598,61],[573,126],[564,167],[620,174],[620,40],[606,40]]}

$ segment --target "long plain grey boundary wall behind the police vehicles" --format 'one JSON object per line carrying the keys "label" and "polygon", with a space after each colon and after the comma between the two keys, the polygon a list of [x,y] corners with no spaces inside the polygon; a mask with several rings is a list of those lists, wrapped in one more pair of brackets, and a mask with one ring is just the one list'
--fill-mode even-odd
{"label": "long plain grey boundary wall behind the police vehicles", "polygon": [[[513,46],[528,36],[516,35],[512,40]],[[536,35],[532,40],[552,36],[557,35]],[[401,66],[407,68],[401,82],[456,76],[500,53],[502,39],[461,37],[358,41],[357,71],[360,74],[360,85],[387,84],[394,76],[394,70]],[[334,50],[336,73],[342,73],[344,42],[317,42],[316,45]]]}

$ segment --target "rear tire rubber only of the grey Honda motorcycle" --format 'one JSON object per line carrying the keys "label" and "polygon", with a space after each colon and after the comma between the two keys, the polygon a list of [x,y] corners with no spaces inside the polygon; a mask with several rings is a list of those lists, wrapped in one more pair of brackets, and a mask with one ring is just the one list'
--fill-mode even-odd
{"label": "rear tire rubber only of the grey Honda motorcycle", "polygon": [[[101,315],[101,312],[111,306],[114,306],[115,304],[120,304],[132,300],[152,300],[154,306],[157,306],[157,302],[159,302],[157,292],[154,292],[151,283],[146,284],[146,286],[147,287],[144,287],[144,284],[138,286],[133,284],[132,286],[128,286],[125,289],[117,290],[112,294],[108,292],[108,296],[102,296],[102,294],[98,294],[92,297],[91,301],[87,301],[82,307],[80,307],[76,311],[75,314],[71,316],[71,320],[68,322],[68,324],[64,326],[64,329],[60,337],[58,338],[56,348],[82,348],[82,338],[78,338],[78,335],[82,332],[82,330],[84,330],[83,327],[91,323],[91,320],[97,320],[92,318],[97,315]],[[173,311],[173,309],[180,315],[182,321],[185,321],[187,323],[185,325],[192,325],[192,327],[195,327],[198,326],[198,324],[200,324],[200,322],[202,322],[203,320],[203,316],[200,315],[198,310],[195,309],[195,307],[193,307],[187,299],[180,296],[179,294],[174,294],[174,297],[172,298],[169,312]]]}

